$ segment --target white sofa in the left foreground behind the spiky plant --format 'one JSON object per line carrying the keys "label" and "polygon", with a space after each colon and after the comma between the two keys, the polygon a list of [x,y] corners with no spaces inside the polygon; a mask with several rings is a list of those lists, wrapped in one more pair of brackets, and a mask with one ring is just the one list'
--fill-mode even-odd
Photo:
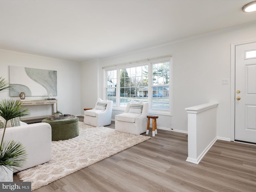
{"label": "white sofa in the left foreground behind the spiky plant", "polygon": [[[16,167],[19,171],[48,162],[52,158],[52,128],[48,123],[26,124],[8,127],[4,134],[4,140],[15,140],[26,148],[27,160],[24,166]],[[4,129],[0,129],[2,139]],[[17,170],[14,170],[17,172]]]}

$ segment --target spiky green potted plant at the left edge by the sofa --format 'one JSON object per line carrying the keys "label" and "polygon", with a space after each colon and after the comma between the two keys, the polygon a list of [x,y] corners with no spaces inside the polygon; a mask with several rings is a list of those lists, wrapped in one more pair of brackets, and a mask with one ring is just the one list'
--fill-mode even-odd
{"label": "spiky green potted plant at the left edge by the sofa", "polygon": [[[7,90],[9,88],[10,86],[8,86],[7,81],[0,77],[0,91]],[[12,181],[13,169],[16,170],[15,167],[23,166],[26,161],[26,150],[20,142],[16,142],[14,140],[4,140],[8,120],[26,115],[29,115],[28,109],[24,108],[19,100],[2,99],[0,101],[0,116],[2,116],[2,118],[5,120],[0,144],[0,181]],[[3,178],[4,174],[8,177],[8,179]]]}

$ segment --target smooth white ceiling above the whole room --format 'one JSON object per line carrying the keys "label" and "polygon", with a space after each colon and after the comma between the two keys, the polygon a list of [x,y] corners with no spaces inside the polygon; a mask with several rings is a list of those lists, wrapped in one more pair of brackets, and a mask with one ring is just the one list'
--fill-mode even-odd
{"label": "smooth white ceiling above the whole room", "polygon": [[0,49],[107,58],[241,24],[252,0],[1,0]]}

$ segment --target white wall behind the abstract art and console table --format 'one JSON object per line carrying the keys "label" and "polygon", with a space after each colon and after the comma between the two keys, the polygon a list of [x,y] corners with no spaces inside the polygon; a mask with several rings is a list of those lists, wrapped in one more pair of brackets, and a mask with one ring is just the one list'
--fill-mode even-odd
{"label": "white wall behind the abstract art and console table", "polygon": [[[9,82],[9,66],[22,66],[57,71],[58,110],[64,114],[80,115],[80,63],[54,58],[0,50],[0,76]],[[21,77],[22,78],[22,77]],[[9,91],[1,92],[0,99],[10,98]],[[12,97],[20,99],[19,97]],[[27,97],[26,99],[45,99],[47,96]],[[40,116],[50,105],[30,108],[30,116]],[[36,112],[36,108],[38,111]],[[48,114],[46,114],[48,115]]]}

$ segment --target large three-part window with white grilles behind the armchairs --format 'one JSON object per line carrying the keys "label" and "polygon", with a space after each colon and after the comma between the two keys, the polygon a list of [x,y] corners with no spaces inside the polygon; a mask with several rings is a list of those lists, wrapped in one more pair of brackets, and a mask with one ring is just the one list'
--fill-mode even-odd
{"label": "large three-part window with white grilles behind the armchairs", "polygon": [[170,58],[106,69],[105,84],[106,98],[117,108],[143,100],[151,110],[170,110]]}

